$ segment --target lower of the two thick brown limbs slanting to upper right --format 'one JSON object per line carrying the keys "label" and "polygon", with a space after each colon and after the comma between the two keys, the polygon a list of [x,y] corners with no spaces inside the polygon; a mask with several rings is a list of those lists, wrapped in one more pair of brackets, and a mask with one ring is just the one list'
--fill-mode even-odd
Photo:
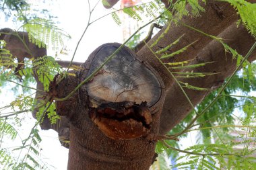
{"label": "lower of the two thick brown limbs slanting to upper right", "polygon": [[[245,56],[255,40],[248,34],[245,28],[236,28],[236,24],[232,24],[224,32],[218,35],[224,38],[227,44],[236,49],[239,54]],[[250,61],[256,59],[254,51]],[[189,83],[195,87],[203,87],[207,89],[216,89],[224,83],[226,77],[230,76],[236,69],[236,60],[228,53],[225,53],[222,44],[212,40],[196,55],[195,63],[213,62],[205,67],[193,69],[194,72],[200,73],[218,73],[216,75],[207,76],[197,79],[179,79],[179,81]],[[193,63],[192,63],[193,64]],[[193,105],[197,105],[210,91],[195,91],[186,89],[185,92],[191,99]],[[181,109],[182,108],[182,109]],[[177,83],[168,89],[164,108],[161,114],[160,133],[165,134],[178,124],[192,110],[191,105],[185,98]]]}

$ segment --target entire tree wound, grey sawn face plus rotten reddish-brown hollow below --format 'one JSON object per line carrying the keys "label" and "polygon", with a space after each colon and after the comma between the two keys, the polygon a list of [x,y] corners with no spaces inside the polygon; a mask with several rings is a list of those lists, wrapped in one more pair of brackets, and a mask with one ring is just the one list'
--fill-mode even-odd
{"label": "entire tree wound, grey sawn face plus rotten reddish-brown hollow below", "polygon": [[[120,45],[104,44],[94,50],[88,62],[82,65],[88,72],[79,73],[81,81]],[[137,60],[129,48],[121,48],[81,89],[81,98],[85,91],[88,95],[90,118],[108,138],[132,140],[150,133],[150,107],[160,99],[162,87],[152,69]]]}

